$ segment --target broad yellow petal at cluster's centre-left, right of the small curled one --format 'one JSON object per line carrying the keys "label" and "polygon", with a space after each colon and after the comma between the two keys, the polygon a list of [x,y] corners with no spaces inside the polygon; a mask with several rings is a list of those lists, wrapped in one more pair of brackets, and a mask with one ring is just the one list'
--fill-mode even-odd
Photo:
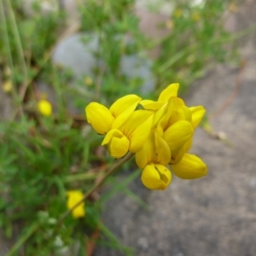
{"label": "broad yellow petal at cluster's centre-left, right of the small curled one", "polygon": [[154,113],[147,110],[137,110],[131,114],[121,131],[131,142],[130,152],[136,153],[143,148],[143,143],[146,142],[152,127]]}

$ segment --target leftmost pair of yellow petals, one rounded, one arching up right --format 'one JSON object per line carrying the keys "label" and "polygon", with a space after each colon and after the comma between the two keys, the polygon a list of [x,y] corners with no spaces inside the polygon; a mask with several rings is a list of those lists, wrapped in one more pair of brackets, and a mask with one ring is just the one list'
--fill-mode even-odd
{"label": "leftmost pair of yellow petals, one rounded, one arching up right", "polygon": [[85,108],[87,121],[97,133],[107,134],[111,129],[118,129],[129,119],[141,99],[137,95],[127,95],[119,98],[109,109],[100,103],[91,102]]}

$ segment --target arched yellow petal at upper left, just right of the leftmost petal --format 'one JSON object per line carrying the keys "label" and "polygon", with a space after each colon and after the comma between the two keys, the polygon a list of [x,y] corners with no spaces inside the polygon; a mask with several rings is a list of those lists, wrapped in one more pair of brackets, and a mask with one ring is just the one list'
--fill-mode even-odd
{"label": "arched yellow petal at upper left, just right of the leftmost petal", "polygon": [[142,100],[141,97],[137,95],[127,95],[119,98],[113,105],[109,108],[115,118],[112,124],[112,128],[119,128],[125,120],[129,119],[131,113],[137,108],[137,104]]}

